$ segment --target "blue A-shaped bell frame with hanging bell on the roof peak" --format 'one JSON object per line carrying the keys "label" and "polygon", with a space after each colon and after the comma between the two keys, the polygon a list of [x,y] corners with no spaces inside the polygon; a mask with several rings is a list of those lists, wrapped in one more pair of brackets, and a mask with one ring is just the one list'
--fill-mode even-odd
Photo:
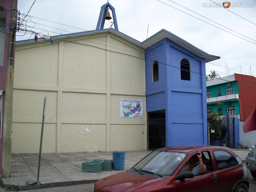
{"label": "blue A-shaped bell frame with hanging bell on the roof peak", "polygon": [[96,30],[103,29],[104,24],[105,24],[105,20],[111,19],[110,14],[109,14],[109,10],[111,10],[111,12],[112,12],[112,17],[113,17],[113,21],[114,21],[115,30],[118,31],[115,8],[110,3],[106,3],[106,4],[101,6],[100,15],[99,15]]}

